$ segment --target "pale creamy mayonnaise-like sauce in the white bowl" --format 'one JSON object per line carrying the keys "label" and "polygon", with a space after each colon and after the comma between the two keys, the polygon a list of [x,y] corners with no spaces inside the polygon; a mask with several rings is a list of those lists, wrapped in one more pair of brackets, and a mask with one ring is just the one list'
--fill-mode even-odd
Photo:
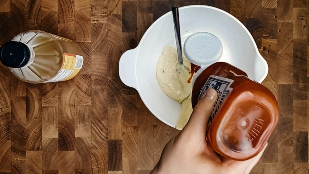
{"label": "pale creamy mayonnaise-like sauce in the white bowl", "polygon": [[191,104],[192,84],[190,78],[191,64],[183,55],[184,66],[178,63],[177,50],[167,46],[157,64],[157,79],[162,91],[171,99],[181,103],[181,112],[176,128],[181,130],[188,122],[193,111]]}

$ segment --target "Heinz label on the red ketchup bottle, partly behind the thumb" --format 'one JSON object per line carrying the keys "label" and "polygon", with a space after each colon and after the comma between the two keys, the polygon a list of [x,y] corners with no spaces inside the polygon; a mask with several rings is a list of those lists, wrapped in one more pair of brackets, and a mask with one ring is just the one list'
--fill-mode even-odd
{"label": "Heinz label on the red ketchup bottle, partly behind the thumb", "polygon": [[214,120],[214,117],[215,117],[217,111],[219,110],[222,102],[224,101],[226,96],[233,90],[233,88],[230,87],[233,82],[234,82],[234,80],[232,80],[232,79],[211,75],[208,78],[208,80],[206,81],[203,88],[201,89],[200,95],[198,97],[198,101],[201,100],[202,96],[205,94],[205,92],[208,88],[213,88],[218,93],[217,100],[214,104],[213,110],[212,110],[210,118],[208,120],[207,131],[208,131],[212,121]]}

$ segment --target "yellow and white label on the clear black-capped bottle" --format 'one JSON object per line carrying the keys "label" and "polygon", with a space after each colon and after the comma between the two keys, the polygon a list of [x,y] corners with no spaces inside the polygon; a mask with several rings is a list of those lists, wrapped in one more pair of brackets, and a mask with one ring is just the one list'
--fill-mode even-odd
{"label": "yellow and white label on the clear black-capped bottle", "polygon": [[84,63],[83,56],[64,53],[63,57],[63,65],[57,76],[46,81],[45,83],[70,80],[76,76],[80,69],[82,69]]}

